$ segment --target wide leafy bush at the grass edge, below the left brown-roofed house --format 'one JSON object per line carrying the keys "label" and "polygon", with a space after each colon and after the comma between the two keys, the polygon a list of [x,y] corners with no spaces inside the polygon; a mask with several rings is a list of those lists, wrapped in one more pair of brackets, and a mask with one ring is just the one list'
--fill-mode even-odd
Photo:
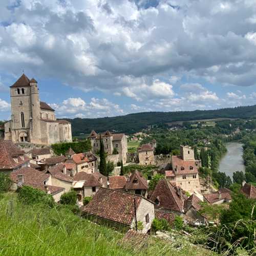
{"label": "wide leafy bush at the grass edge, below the left brown-roofed house", "polygon": [[18,200],[24,204],[33,205],[41,204],[49,207],[55,205],[53,197],[44,191],[31,186],[22,186],[18,188]]}

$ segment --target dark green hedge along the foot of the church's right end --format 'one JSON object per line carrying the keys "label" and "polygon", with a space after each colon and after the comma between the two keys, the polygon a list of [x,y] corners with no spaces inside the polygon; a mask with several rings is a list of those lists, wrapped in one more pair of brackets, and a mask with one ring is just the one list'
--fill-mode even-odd
{"label": "dark green hedge along the foot of the church's right end", "polygon": [[63,142],[52,145],[54,154],[58,156],[65,155],[70,147],[77,154],[87,152],[92,149],[91,141],[89,139],[81,142]]}

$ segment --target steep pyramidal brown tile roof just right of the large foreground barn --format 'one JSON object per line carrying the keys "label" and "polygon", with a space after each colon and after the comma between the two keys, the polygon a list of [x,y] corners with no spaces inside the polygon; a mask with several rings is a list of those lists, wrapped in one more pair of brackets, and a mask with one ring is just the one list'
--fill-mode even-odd
{"label": "steep pyramidal brown tile roof just right of the large foreground barn", "polygon": [[183,200],[178,195],[176,189],[165,179],[159,180],[150,200],[153,202],[158,200],[159,204],[155,205],[157,208],[175,211],[183,210]]}

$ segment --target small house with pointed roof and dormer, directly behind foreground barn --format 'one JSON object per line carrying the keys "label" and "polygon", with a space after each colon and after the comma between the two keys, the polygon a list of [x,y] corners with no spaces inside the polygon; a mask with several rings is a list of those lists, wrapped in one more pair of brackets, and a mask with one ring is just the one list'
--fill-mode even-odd
{"label": "small house with pointed roof and dormer, directly behind foreground barn", "polygon": [[138,170],[127,179],[125,190],[129,193],[147,197],[147,180],[142,176]]}

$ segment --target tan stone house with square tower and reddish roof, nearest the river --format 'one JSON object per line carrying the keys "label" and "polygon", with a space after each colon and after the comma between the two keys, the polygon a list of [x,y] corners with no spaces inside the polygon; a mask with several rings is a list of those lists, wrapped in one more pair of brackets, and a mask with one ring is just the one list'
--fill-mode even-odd
{"label": "tan stone house with square tower and reddish roof, nearest the river", "polygon": [[200,161],[195,160],[194,150],[189,146],[180,146],[181,156],[172,156],[172,170],[165,172],[168,179],[189,193],[201,192],[198,168]]}

